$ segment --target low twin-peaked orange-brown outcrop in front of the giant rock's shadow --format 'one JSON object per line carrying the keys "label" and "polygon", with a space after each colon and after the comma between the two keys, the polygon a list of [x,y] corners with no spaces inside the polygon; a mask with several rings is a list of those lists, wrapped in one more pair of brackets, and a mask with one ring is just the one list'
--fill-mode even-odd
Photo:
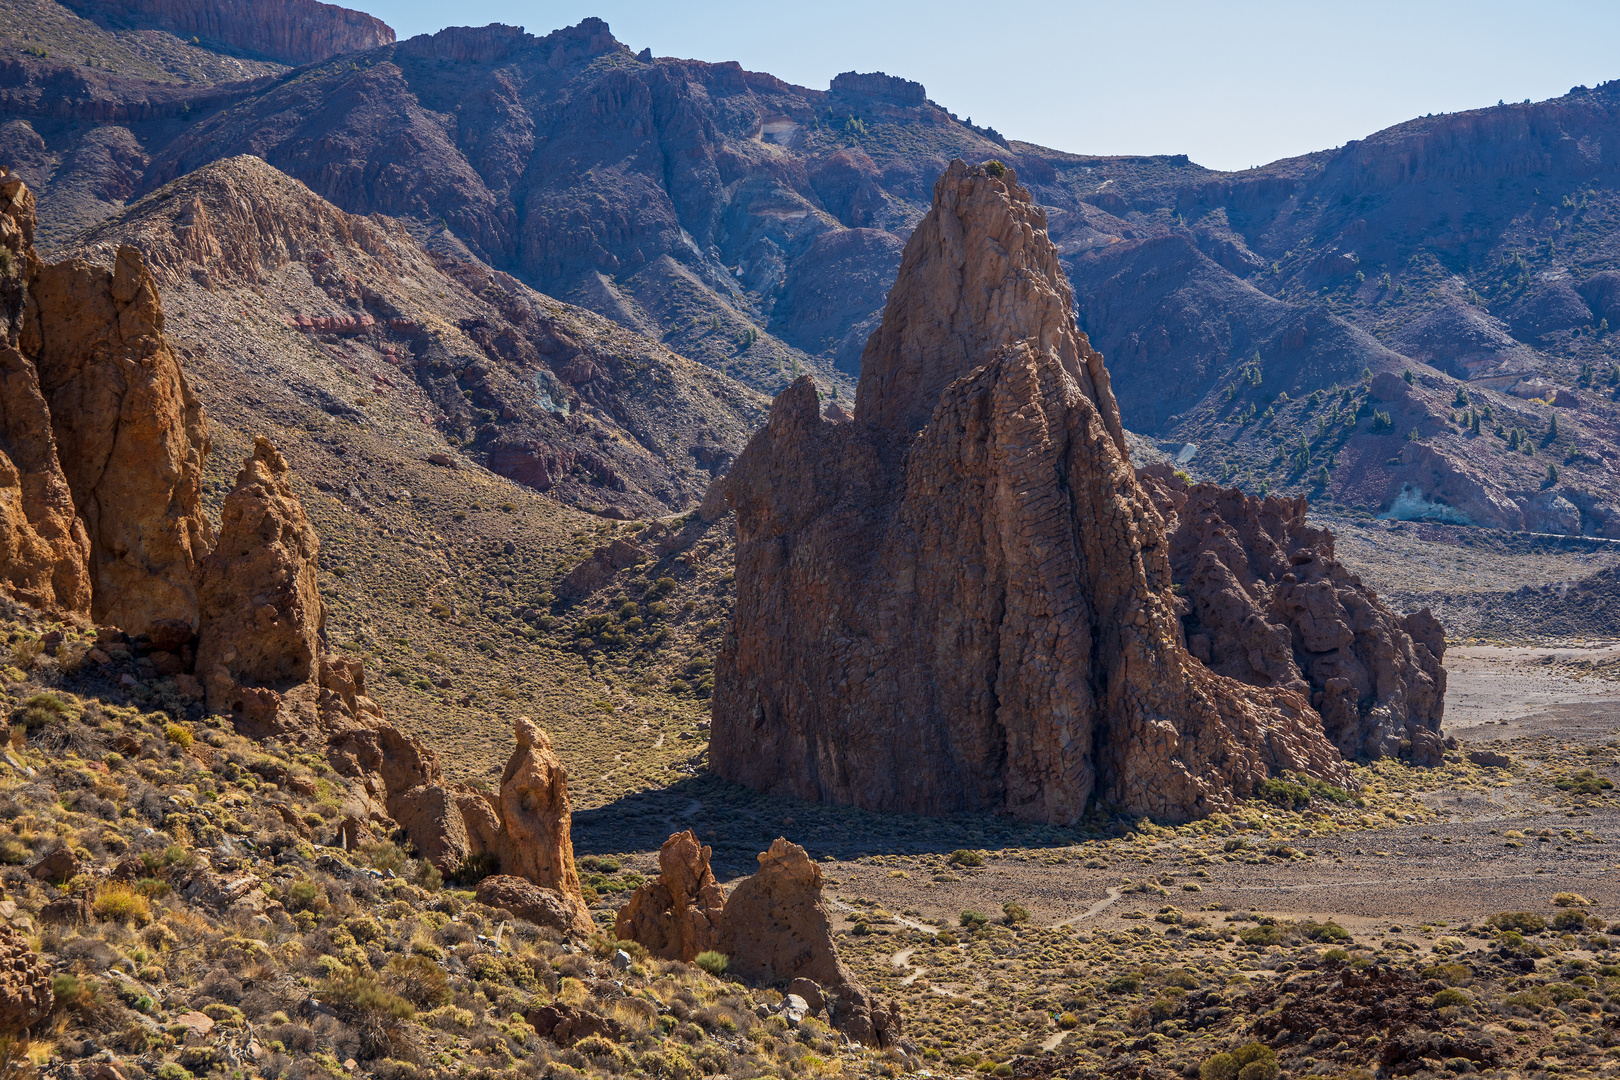
{"label": "low twin-peaked orange-brown outcrop in front of the giant rock's shadow", "polygon": [[802,847],[779,837],[729,897],[708,860],[710,848],[690,831],[671,836],[658,853],[658,879],[630,894],[614,934],[669,960],[690,962],[714,949],[744,980],[786,986],[813,1012],[826,1009],[849,1038],[867,1046],[899,1043],[899,1010],[873,997],[838,957],[821,868]]}

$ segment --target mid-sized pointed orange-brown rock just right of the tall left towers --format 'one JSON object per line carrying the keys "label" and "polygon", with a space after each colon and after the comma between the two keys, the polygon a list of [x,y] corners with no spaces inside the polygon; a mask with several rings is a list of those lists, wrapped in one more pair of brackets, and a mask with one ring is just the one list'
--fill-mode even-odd
{"label": "mid-sized pointed orange-brown rock just right of the tall left towers", "polygon": [[326,606],[321,541],[293,494],[287,460],[262,436],[225,497],[219,546],[201,576],[198,677],[207,704],[262,738],[284,696],[318,674]]}

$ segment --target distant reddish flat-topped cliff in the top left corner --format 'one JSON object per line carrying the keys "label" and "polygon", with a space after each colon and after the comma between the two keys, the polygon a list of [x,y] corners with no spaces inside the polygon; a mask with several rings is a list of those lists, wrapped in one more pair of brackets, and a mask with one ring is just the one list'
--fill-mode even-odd
{"label": "distant reddish flat-topped cliff in the top left corner", "polygon": [[68,6],[120,28],[165,29],[292,65],[394,42],[382,19],[318,0],[68,0]]}

